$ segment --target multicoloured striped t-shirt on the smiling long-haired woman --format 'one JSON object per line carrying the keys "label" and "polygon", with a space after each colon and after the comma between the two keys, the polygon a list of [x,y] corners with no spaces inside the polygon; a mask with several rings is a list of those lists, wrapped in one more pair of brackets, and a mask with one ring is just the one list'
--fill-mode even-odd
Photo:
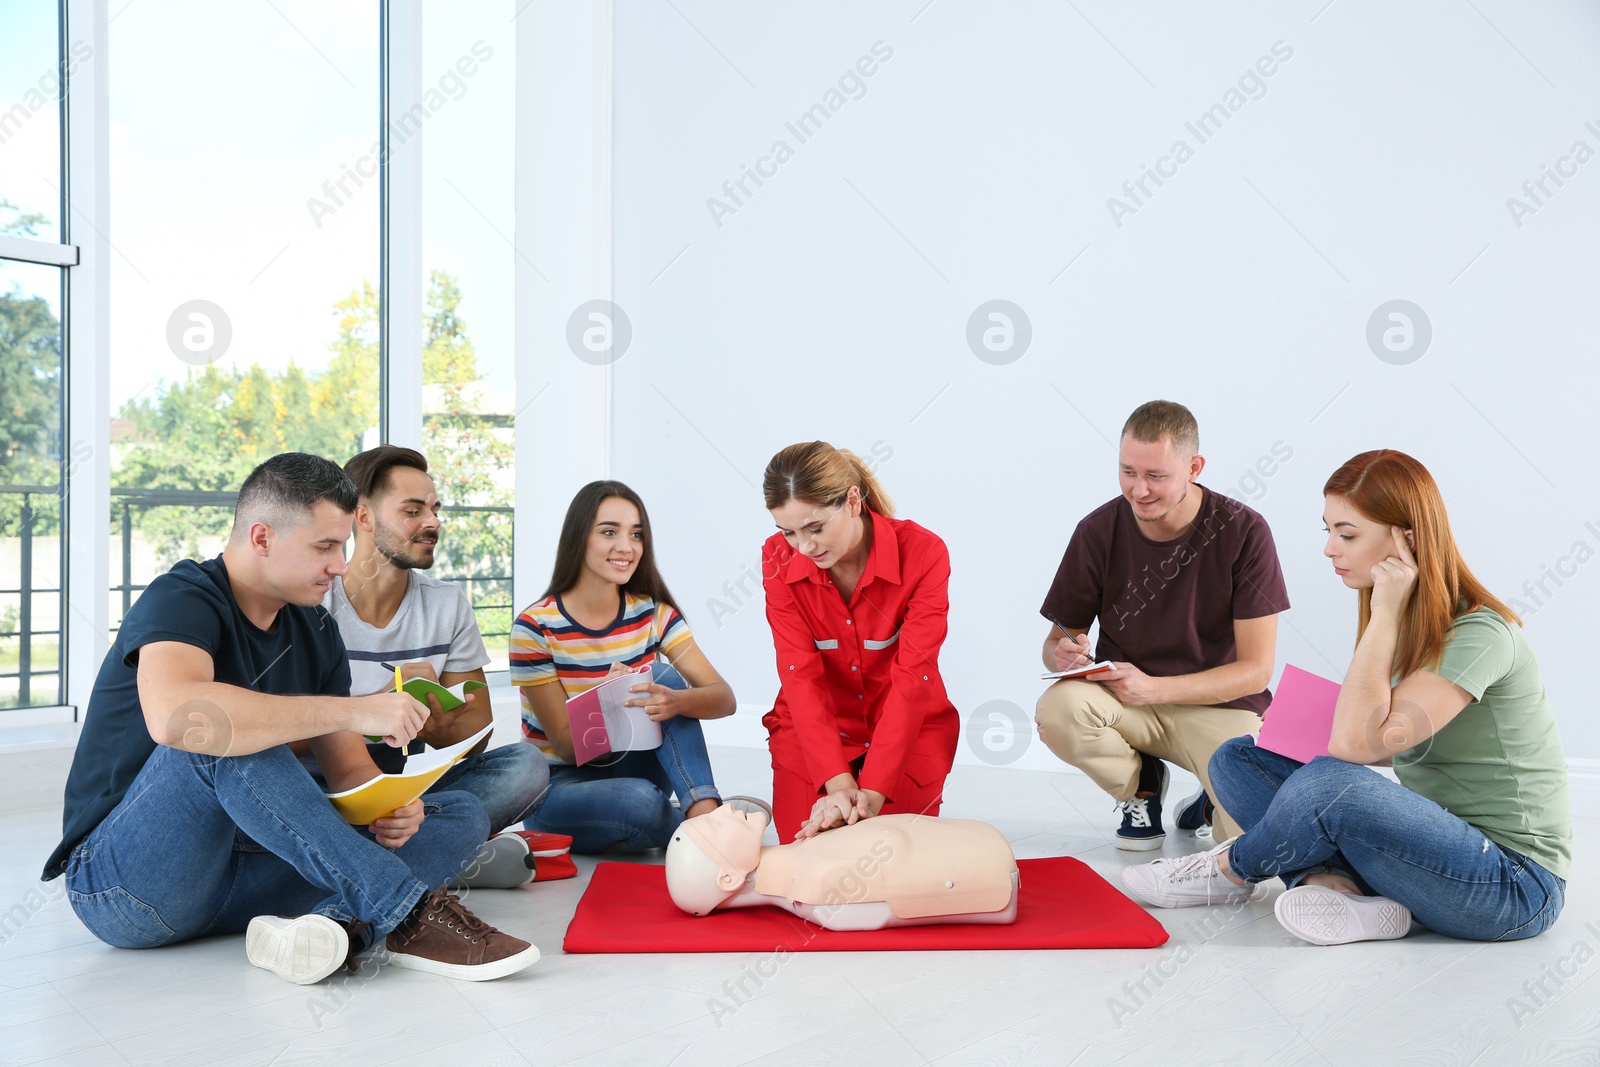
{"label": "multicoloured striped t-shirt on the smiling long-haired woman", "polygon": [[[658,653],[670,656],[690,637],[683,616],[650,597],[624,592],[616,619],[603,630],[579,625],[566,614],[560,597],[546,597],[510,625],[510,683],[534,686],[560,681],[570,701],[605,681],[611,664],[648,664]],[[562,761],[544,736],[526,691],[522,694],[522,733],[539,745],[544,758]]]}

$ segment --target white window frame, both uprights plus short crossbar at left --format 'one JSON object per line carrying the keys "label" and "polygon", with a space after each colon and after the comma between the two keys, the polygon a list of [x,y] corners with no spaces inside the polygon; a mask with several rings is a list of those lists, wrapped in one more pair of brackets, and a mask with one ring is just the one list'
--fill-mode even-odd
{"label": "white window frame, both uprights plus short crossbar at left", "polygon": [[[88,54],[62,72],[61,242],[0,238],[0,259],[59,267],[62,347],[62,450],[86,458],[62,472],[62,697],[30,709],[77,720],[110,649],[110,107],[109,0],[59,0],[58,62]],[[83,51],[86,48],[86,53]],[[382,138],[379,208],[379,427],[386,442],[422,440],[422,142],[390,139],[390,102],[416,99],[422,80],[422,10],[408,0],[379,6]],[[22,709],[18,709],[22,710]],[[46,715],[46,718],[50,718]],[[5,720],[0,720],[5,721]]]}

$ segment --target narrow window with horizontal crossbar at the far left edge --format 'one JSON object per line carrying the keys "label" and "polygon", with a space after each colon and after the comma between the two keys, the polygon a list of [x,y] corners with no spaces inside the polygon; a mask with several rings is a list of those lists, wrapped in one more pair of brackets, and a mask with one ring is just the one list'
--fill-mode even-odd
{"label": "narrow window with horizontal crossbar at the far left edge", "polygon": [[61,27],[5,6],[0,32],[0,707],[62,701]]}

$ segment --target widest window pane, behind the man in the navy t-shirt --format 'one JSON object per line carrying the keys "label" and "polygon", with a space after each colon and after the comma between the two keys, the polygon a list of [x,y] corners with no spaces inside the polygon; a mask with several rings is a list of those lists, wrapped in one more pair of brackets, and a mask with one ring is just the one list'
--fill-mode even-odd
{"label": "widest window pane, behind the man in the navy t-shirt", "polygon": [[378,440],[379,19],[163,0],[109,48],[115,627],[258,462]]}

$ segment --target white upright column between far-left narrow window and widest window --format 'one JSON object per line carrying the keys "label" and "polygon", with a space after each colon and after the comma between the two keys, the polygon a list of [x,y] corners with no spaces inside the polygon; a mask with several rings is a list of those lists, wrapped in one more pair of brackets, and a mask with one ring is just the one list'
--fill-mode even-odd
{"label": "white upright column between far-left narrow window and widest window", "polygon": [[67,608],[66,699],[78,717],[110,648],[110,189],[106,56],[107,0],[67,0],[66,56],[78,56],[66,106],[67,200],[64,240],[78,246],[67,267],[64,346],[67,413],[62,477]]}

